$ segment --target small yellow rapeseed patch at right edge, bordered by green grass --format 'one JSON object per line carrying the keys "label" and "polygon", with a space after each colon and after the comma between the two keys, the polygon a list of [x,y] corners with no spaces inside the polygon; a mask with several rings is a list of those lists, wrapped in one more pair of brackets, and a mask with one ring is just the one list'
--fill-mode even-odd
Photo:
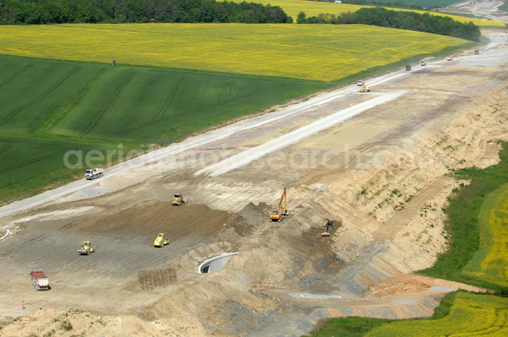
{"label": "small yellow rapeseed patch at right edge, bordered by green grass", "polygon": [[486,198],[478,220],[480,249],[467,263],[464,274],[508,287],[508,185]]}

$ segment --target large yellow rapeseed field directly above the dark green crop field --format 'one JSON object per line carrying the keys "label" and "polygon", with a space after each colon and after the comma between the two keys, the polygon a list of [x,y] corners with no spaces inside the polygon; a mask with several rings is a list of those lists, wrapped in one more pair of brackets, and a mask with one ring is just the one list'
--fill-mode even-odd
{"label": "large yellow rapeseed field directly above the dark green crop field", "polygon": [[365,25],[0,26],[0,53],[332,81],[465,40]]}

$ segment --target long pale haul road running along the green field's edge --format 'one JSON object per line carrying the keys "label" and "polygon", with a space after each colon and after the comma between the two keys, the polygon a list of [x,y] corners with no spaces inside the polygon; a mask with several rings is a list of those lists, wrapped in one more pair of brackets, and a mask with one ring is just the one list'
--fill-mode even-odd
{"label": "long pale haul road running along the green field's edge", "polygon": [[[440,63],[442,61],[436,61],[434,63]],[[430,63],[429,63],[430,66]],[[413,71],[406,72],[405,70],[397,70],[395,72],[385,74],[382,76],[378,76],[375,78],[372,78],[368,81],[368,85],[370,87],[379,85],[382,83],[385,83],[387,81],[399,78],[401,76],[414,73],[416,71],[422,70],[425,67],[417,68]],[[58,199],[59,197],[65,196],[67,194],[76,192],[78,190],[90,187],[92,185],[96,185],[103,181],[104,179],[108,179],[108,177],[118,175],[120,173],[123,173],[125,171],[134,170],[135,168],[139,168],[142,166],[145,166],[149,163],[156,162],[157,160],[178,154],[180,152],[193,149],[196,147],[199,147],[201,145],[205,145],[211,142],[218,141],[220,139],[227,138],[231,136],[234,133],[237,133],[239,131],[248,130],[251,128],[256,128],[261,125],[276,121],[281,118],[285,118],[297,113],[301,113],[307,109],[310,109],[314,106],[320,106],[322,104],[331,102],[334,99],[337,99],[341,97],[342,95],[356,92],[358,91],[358,87],[350,86],[347,88],[337,89],[333,90],[321,95],[317,95],[315,97],[311,97],[308,100],[291,105],[289,107],[285,107],[281,109],[280,111],[276,111],[273,113],[265,114],[258,117],[252,117],[248,118],[242,121],[239,121],[237,123],[234,123],[229,126],[225,126],[223,128],[212,130],[206,133],[201,134],[200,136],[196,137],[190,137],[186,140],[184,140],[181,143],[176,143],[169,145],[165,148],[158,149],[152,152],[149,152],[147,154],[141,155],[139,157],[136,157],[134,159],[131,159],[129,161],[119,163],[111,168],[108,168],[105,170],[104,174],[105,177],[98,179],[98,180],[78,180],[72,183],[69,183],[65,186],[61,186],[58,188],[55,188],[50,191],[46,191],[44,193],[19,200],[14,201],[14,203],[0,207],[0,218],[6,217],[8,215],[25,211],[30,208],[34,208],[37,206],[40,206],[45,203],[49,203],[50,201],[54,201]]]}

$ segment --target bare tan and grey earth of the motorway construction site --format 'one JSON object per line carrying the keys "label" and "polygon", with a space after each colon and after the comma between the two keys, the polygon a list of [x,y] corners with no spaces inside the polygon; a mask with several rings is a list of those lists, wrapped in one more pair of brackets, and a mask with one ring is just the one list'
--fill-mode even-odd
{"label": "bare tan and grey earth of the motorway construction site", "polygon": [[[480,55],[429,60],[370,93],[347,93],[114,176],[106,170],[93,185],[4,217],[0,228],[11,233],[0,242],[0,319],[11,323],[0,335],[65,334],[61,322],[69,320],[76,334],[298,336],[329,317],[430,316],[449,291],[481,291],[412,272],[446,249],[442,208],[468,183],[448,174],[496,163],[497,141],[508,140],[508,33],[484,34],[492,42]],[[394,92],[246,165],[207,171]],[[288,216],[270,222],[284,187]],[[176,192],[184,206],[171,206]],[[334,219],[329,238],[320,235],[325,218]],[[153,247],[157,233],[168,246]],[[77,253],[85,240],[96,252]],[[227,252],[239,253],[223,271],[197,272]],[[49,277],[49,291],[31,285],[35,269]]]}

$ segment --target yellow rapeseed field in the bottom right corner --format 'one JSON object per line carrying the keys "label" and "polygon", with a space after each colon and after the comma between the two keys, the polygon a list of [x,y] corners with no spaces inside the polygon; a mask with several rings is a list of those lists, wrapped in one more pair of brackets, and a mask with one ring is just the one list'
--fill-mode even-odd
{"label": "yellow rapeseed field in the bottom right corner", "polygon": [[492,336],[508,335],[508,299],[459,292],[450,314],[441,319],[402,320],[371,330],[366,336]]}

